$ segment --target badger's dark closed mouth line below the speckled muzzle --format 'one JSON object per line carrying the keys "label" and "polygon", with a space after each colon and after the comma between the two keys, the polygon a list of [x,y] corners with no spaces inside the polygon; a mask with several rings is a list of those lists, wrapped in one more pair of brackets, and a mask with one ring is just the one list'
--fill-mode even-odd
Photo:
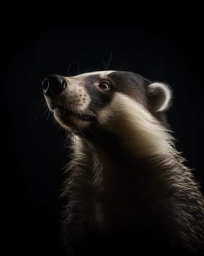
{"label": "badger's dark closed mouth line below the speckled muzzle", "polygon": [[83,120],[83,121],[95,120],[95,115],[93,113],[87,113],[85,111],[80,111],[80,110],[73,110],[71,108],[65,108],[61,105],[55,105],[53,110],[55,110],[58,116],[62,118],[74,117],[74,118],[79,118],[80,120]]}

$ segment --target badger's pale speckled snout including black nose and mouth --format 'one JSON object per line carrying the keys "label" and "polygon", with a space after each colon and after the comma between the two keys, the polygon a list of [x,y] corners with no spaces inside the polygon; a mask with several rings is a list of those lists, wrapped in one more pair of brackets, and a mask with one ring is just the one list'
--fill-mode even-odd
{"label": "badger's pale speckled snout including black nose and mouth", "polygon": [[63,127],[81,129],[95,120],[84,79],[49,75],[42,86],[47,107]]}

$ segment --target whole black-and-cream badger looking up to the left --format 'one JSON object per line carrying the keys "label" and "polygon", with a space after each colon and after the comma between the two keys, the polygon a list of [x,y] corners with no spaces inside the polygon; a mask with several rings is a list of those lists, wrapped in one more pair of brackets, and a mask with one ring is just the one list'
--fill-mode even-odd
{"label": "whole black-and-cream badger looking up to the left", "polygon": [[165,116],[170,86],[110,70],[42,84],[71,144],[67,255],[204,255],[204,199]]}

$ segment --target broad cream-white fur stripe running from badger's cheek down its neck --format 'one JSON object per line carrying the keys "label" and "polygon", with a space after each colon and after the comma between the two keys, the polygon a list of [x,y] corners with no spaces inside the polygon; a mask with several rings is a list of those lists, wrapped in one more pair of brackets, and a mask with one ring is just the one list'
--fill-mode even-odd
{"label": "broad cream-white fur stripe running from badger's cheek down its neck", "polygon": [[98,121],[101,127],[119,135],[131,152],[162,155],[174,151],[168,130],[125,94],[114,94],[110,104],[99,111]]}

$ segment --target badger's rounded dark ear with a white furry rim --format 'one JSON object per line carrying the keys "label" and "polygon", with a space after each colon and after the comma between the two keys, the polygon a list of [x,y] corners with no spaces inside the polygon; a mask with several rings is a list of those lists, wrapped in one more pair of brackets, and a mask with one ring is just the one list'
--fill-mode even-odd
{"label": "badger's rounded dark ear with a white furry rim", "polygon": [[150,83],[148,86],[149,105],[153,112],[168,110],[172,92],[165,83]]}

